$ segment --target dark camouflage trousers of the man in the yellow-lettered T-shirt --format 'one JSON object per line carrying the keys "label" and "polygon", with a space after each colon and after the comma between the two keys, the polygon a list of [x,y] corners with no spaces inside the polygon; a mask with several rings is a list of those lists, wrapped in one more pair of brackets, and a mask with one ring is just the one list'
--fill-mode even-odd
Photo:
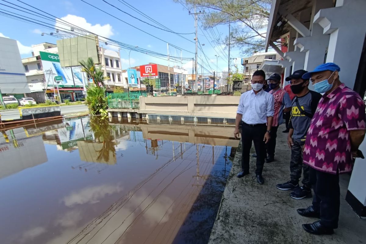
{"label": "dark camouflage trousers of the man in the yellow-lettered T-shirt", "polygon": [[308,188],[311,188],[309,179],[309,165],[302,163],[302,147],[305,142],[296,142],[291,147],[291,161],[290,161],[290,177],[292,181],[299,182],[301,172],[303,171],[304,177],[302,178],[302,184]]}

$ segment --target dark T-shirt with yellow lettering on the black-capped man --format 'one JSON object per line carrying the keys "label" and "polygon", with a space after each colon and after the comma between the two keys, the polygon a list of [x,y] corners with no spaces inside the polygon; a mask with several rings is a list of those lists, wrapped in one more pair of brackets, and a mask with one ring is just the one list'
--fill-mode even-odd
{"label": "dark T-shirt with yellow lettering on the black-capped man", "polygon": [[320,93],[309,91],[302,97],[296,96],[294,99],[292,99],[291,120],[289,127],[294,129],[292,139],[294,139],[296,142],[305,142],[307,130],[309,129],[311,122],[310,117],[301,114],[300,109],[296,104],[296,99],[298,100],[302,110],[314,115],[321,97],[322,95]]}

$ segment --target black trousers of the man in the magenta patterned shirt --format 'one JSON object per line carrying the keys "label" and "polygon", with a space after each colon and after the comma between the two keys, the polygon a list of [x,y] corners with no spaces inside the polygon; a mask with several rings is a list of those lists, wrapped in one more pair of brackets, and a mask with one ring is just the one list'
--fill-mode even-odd
{"label": "black trousers of the man in the magenta patterned shirt", "polygon": [[320,224],[336,229],[340,207],[339,173],[324,173],[313,168],[309,171],[314,190],[313,208],[320,211]]}

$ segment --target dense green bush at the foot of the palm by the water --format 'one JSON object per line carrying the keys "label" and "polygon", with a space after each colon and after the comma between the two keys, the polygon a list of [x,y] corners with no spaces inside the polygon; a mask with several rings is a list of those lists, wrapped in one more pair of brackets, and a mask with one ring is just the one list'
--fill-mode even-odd
{"label": "dense green bush at the foot of the palm by the water", "polygon": [[89,112],[92,115],[107,114],[108,99],[105,96],[105,88],[91,86],[86,93],[86,104],[89,108]]}

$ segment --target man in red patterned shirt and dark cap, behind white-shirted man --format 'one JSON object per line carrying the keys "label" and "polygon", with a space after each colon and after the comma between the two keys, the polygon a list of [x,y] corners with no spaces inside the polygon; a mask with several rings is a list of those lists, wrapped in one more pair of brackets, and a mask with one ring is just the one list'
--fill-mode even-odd
{"label": "man in red patterned shirt and dark cap, behind white-shirted man", "polygon": [[275,115],[273,115],[272,129],[269,132],[271,139],[267,143],[267,158],[266,163],[270,163],[275,160],[275,148],[276,148],[276,138],[277,129],[280,124],[283,123],[283,112],[290,112],[291,110],[291,100],[288,93],[280,87],[281,76],[279,74],[273,74],[268,79],[269,94],[272,94],[275,98]]}

